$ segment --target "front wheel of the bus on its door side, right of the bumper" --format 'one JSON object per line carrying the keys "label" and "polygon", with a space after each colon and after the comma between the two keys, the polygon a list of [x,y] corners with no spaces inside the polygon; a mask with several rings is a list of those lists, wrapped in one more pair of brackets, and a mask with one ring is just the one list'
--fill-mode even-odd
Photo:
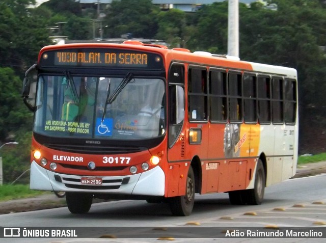
{"label": "front wheel of the bus on its door side, right of the bumper", "polygon": [[189,167],[186,191],[184,196],[169,199],[171,212],[175,216],[188,216],[192,213],[195,202],[195,175],[192,167]]}

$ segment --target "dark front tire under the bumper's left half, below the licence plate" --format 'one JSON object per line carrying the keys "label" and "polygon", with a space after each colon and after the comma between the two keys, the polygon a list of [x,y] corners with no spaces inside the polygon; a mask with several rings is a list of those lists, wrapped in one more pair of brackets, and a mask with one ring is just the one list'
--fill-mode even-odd
{"label": "dark front tire under the bumper's left half, below the licence plate", "polygon": [[67,192],[66,201],[71,213],[87,213],[92,206],[93,195]]}

